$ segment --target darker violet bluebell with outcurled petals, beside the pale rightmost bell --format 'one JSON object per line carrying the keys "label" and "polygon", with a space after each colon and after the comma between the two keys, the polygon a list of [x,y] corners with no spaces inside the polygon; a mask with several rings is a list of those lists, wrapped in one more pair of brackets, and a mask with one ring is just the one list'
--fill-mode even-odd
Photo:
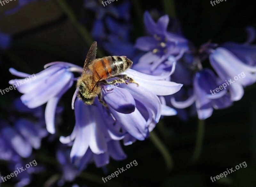
{"label": "darker violet bluebell with outcurled petals, beside the pale rightmost bell", "polygon": [[[221,84],[220,84],[221,85]],[[206,119],[212,115],[214,109],[223,109],[232,104],[225,89],[219,93],[211,94],[210,92],[218,88],[219,81],[210,69],[203,69],[196,72],[193,80],[194,93],[188,100],[177,102],[172,98],[172,105],[177,108],[186,108],[195,102],[196,111],[199,119]]]}

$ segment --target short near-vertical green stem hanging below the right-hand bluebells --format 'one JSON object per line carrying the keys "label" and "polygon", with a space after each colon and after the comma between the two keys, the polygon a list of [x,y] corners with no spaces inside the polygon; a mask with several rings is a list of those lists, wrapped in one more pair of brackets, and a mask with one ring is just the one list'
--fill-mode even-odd
{"label": "short near-vertical green stem hanging below the right-hand bluebells", "polygon": [[204,120],[198,119],[197,135],[196,135],[196,146],[194,149],[192,163],[197,162],[201,155],[204,139]]}

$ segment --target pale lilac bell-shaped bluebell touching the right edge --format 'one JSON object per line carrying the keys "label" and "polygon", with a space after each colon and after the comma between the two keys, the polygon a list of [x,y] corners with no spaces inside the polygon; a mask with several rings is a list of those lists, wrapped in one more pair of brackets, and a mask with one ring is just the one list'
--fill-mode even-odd
{"label": "pale lilac bell-shaped bluebell touching the right edge", "polygon": [[[241,46],[241,52],[236,52],[239,57],[229,51],[228,48],[216,48],[209,58],[212,67],[220,76],[222,82],[228,84],[227,89],[230,92],[231,100],[238,101],[244,95],[243,87],[256,82],[256,66],[247,64],[254,63],[255,59],[253,54],[249,50],[245,50],[243,46]],[[237,50],[237,46],[235,48]],[[233,48],[233,50],[235,49]],[[246,53],[243,55],[244,50],[252,55],[248,55],[247,60],[242,61],[246,58]]]}

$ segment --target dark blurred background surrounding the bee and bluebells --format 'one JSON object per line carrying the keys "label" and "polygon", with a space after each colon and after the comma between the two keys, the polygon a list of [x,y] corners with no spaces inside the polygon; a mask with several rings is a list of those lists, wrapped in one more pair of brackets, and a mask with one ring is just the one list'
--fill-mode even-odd
{"label": "dark blurred background surrounding the bee and bluebells", "polygon": [[[145,35],[143,24],[145,11],[149,11],[155,20],[164,14],[175,16],[180,21],[184,36],[197,47],[209,40],[214,43],[226,41],[243,43],[247,37],[244,29],[247,26],[256,28],[255,8],[247,1],[227,0],[212,6],[209,0],[174,2],[118,0],[106,7],[101,2],[98,2],[97,6],[91,2],[90,0],[16,0],[4,6],[0,4],[0,89],[9,87],[8,81],[16,78],[9,73],[11,67],[34,74],[43,70],[44,64],[53,61],[66,61],[83,66],[87,51],[95,39],[99,40],[96,40],[100,50],[97,57],[113,55],[114,52],[110,49],[118,48],[119,43],[110,42],[106,45],[106,41],[110,39],[105,35],[103,37],[100,28],[99,31],[95,31],[97,28],[95,20],[101,20],[103,25],[106,24],[107,16],[115,17],[111,6],[116,7],[123,3],[128,4],[128,8],[125,8],[123,13],[130,14],[131,17],[119,19],[121,24],[127,26],[124,29],[127,31],[124,34],[126,38],[122,40],[127,41],[131,46],[138,37]],[[132,58],[129,54],[124,50],[122,55]],[[130,55],[132,56],[132,53]],[[61,175],[55,154],[59,146],[59,136],[70,134],[75,124],[74,112],[70,107],[74,90],[75,85],[60,100],[60,106],[64,110],[56,127],[57,134],[54,137],[45,137],[41,148],[34,150],[37,163],[44,165],[45,170],[33,174],[28,186],[47,186],[47,182],[50,183],[49,181]],[[72,186],[74,183],[88,187],[256,186],[255,91],[255,84],[246,87],[241,100],[234,102],[225,110],[215,110],[213,115],[205,120],[203,146],[196,162],[192,162],[192,156],[198,119],[190,117],[187,121],[182,121],[177,116],[164,117],[154,131],[159,137],[159,142],[172,155],[172,160],[169,161],[173,164],[172,170],[167,169],[159,147],[148,139],[123,146],[127,155],[125,160],[119,162],[111,160],[103,169],[91,164],[73,182],[67,182],[64,186]],[[8,108],[13,100],[20,96],[17,90],[0,95],[1,119],[9,120],[12,111]],[[138,163],[136,167],[127,169],[117,178],[103,183],[102,177],[108,176],[133,160]],[[214,183],[211,181],[211,176],[235,168],[242,162],[247,163],[246,168],[241,168]],[[8,162],[0,161],[0,172],[2,176],[7,176],[13,170],[8,168]],[[10,179],[0,185],[7,187],[14,186],[15,183],[15,179]],[[53,183],[52,186],[55,184]]]}

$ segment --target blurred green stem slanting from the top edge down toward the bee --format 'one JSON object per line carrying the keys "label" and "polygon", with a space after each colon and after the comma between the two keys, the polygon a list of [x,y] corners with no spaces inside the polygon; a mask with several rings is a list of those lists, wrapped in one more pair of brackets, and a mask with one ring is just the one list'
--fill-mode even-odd
{"label": "blurred green stem slanting from the top edge down toward the bee", "polygon": [[[56,1],[59,4],[62,11],[64,11],[65,14],[68,16],[68,19],[74,25],[77,32],[82,36],[86,44],[88,46],[91,46],[93,39],[91,37],[90,32],[88,32],[87,29],[77,21],[74,11],[69,7],[67,2],[65,0],[56,0]],[[97,49],[97,54],[99,54],[99,56],[104,56],[103,52],[99,48]]]}

